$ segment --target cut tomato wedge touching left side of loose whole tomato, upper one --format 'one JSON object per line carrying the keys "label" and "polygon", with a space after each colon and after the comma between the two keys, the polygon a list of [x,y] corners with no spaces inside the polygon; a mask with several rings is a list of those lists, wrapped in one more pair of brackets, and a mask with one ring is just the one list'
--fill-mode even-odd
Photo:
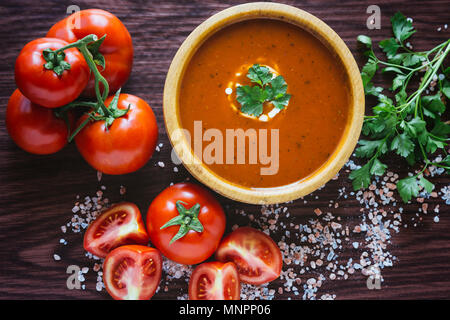
{"label": "cut tomato wedge touching left side of loose whole tomato, upper one", "polygon": [[131,202],[113,205],[97,217],[84,234],[84,249],[101,258],[125,244],[148,244],[141,212]]}

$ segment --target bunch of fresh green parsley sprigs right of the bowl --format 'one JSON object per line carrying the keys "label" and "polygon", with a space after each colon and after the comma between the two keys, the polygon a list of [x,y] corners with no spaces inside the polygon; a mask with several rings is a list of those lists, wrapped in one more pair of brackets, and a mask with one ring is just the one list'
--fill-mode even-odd
{"label": "bunch of fresh green parsley sprigs right of the bowl", "polygon": [[[441,120],[446,109],[446,98],[450,98],[450,67],[443,66],[450,51],[450,39],[429,51],[414,52],[405,43],[416,30],[410,19],[397,12],[392,18],[394,37],[383,40],[379,47],[387,60],[376,57],[372,40],[364,35],[358,41],[366,48],[367,63],[361,70],[366,95],[375,96],[378,104],[372,108],[373,115],[366,116],[362,129],[367,139],[359,141],[356,157],[367,162],[350,174],[353,188],[367,188],[374,175],[381,176],[387,165],[380,161],[383,155],[395,152],[406,159],[409,165],[423,162],[423,167],[414,176],[408,176],[397,183],[397,189],[404,202],[416,197],[424,188],[427,192],[434,185],[423,177],[430,165],[450,169],[450,156],[445,147],[449,141],[450,125]],[[372,78],[378,69],[382,73],[393,74],[390,96],[384,89],[375,87]],[[419,78],[418,87],[408,86],[411,79]],[[427,93],[433,87],[434,94]],[[432,162],[429,157],[440,150],[444,159]]]}

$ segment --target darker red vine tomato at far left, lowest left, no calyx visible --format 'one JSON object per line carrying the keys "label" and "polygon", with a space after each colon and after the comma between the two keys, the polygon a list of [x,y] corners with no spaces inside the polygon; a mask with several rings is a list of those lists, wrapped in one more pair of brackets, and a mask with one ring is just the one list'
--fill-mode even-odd
{"label": "darker red vine tomato at far left, lowest left, no calyx visible", "polygon": [[13,141],[34,154],[51,154],[67,144],[68,128],[54,110],[38,106],[19,89],[9,98],[6,127]]}

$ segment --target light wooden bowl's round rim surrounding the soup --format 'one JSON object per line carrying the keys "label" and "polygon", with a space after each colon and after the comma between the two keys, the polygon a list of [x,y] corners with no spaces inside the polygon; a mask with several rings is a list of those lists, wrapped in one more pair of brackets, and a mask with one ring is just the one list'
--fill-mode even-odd
{"label": "light wooden bowl's round rim surrounding the soup", "polygon": [[[208,169],[194,155],[186,137],[180,134],[178,113],[180,84],[191,57],[203,42],[218,30],[248,19],[269,18],[286,21],[310,32],[334,51],[346,69],[350,84],[349,120],[343,136],[327,162],[310,176],[276,188],[247,188],[235,185]],[[342,39],[323,21],[292,6],[255,2],[223,10],[200,24],[183,42],[170,65],[164,87],[164,120],[172,146],[188,171],[216,192],[233,200],[252,204],[282,203],[303,197],[333,178],[350,157],[364,119],[364,90],[358,66]],[[196,161],[192,161],[192,159]]]}

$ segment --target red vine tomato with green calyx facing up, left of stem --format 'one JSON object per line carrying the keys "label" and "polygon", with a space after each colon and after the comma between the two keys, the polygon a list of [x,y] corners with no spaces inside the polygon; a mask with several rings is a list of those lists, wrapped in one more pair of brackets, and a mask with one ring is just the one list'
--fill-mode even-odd
{"label": "red vine tomato with green calyx facing up, left of stem", "polygon": [[61,39],[39,38],[25,45],[17,57],[17,87],[25,97],[40,106],[57,108],[72,102],[89,81],[89,67],[76,48],[64,50],[64,61],[70,64],[70,70],[64,70],[61,76],[44,67],[47,63],[43,57],[44,49],[57,50],[66,45],[68,42]]}

